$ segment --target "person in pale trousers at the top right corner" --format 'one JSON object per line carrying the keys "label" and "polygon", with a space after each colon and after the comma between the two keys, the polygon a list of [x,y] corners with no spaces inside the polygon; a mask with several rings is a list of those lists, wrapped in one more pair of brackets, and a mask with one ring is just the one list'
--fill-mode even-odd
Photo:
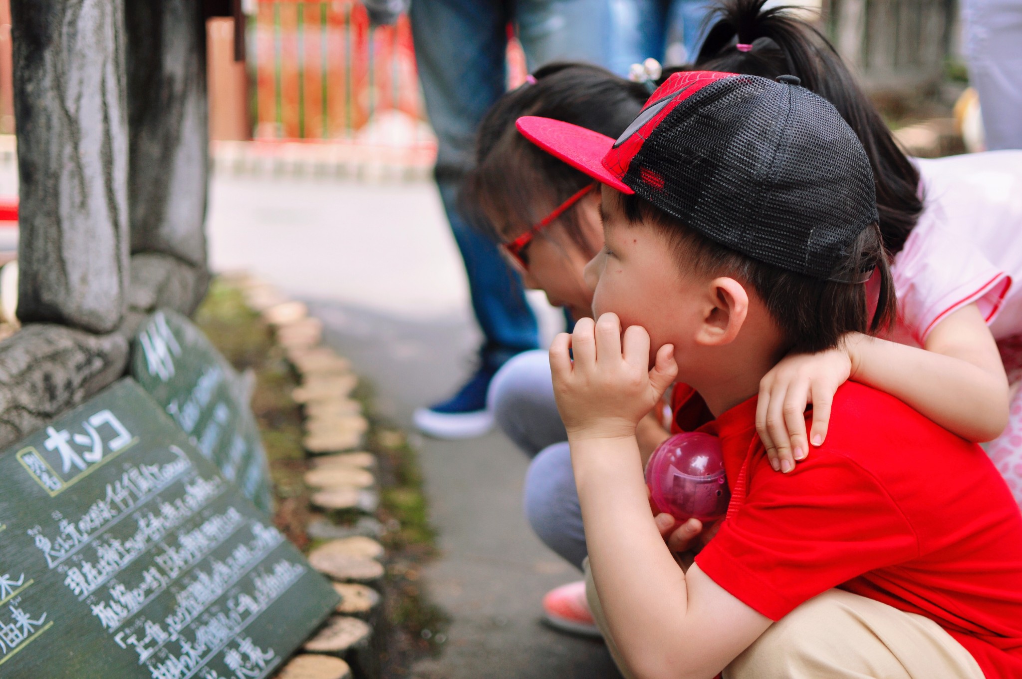
{"label": "person in pale trousers at the top right corner", "polygon": [[962,22],[986,150],[1022,148],[1022,0],[963,0]]}

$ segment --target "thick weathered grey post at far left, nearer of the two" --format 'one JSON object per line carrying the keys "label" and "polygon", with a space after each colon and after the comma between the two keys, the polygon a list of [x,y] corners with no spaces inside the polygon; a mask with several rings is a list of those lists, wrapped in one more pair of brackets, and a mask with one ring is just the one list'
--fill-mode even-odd
{"label": "thick weathered grey post at far left, nearer of the two", "polygon": [[124,0],[11,0],[10,9],[18,316],[109,332],[128,280]]}

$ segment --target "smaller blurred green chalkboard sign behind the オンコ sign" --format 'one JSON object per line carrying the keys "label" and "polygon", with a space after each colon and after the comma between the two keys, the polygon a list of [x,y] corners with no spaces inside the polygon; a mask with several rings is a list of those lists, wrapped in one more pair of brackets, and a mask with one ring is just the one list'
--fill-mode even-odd
{"label": "smaller blurred green chalkboard sign behind the \u30aa\u30f3\u30b3 sign", "polygon": [[201,330],[165,310],[142,325],[132,376],[199,451],[264,511],[273,509],[270,472],[241,378]]}

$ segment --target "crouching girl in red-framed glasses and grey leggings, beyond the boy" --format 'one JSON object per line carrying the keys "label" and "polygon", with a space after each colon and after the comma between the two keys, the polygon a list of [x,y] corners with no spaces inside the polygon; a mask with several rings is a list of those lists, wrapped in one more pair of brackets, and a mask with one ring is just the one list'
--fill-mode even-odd
{"label": "crouching girl in red-framed glasses and grey leggings, beyond the boy", "polygon": [[[514,123],[521,116],[543,116],[616,138],[649,92],[646,85],[598,66],[553,63],[505,94],[479,127],[477,165],[462,188],[463,210],[492,230],[525,286],[545,291],[550,304],[571,318],[593,315],[593,290],[583,269],[603,247],[600,190],[587,175],[518,134]],[[498,425],[532,458],[524,497],[532,530],[580,571],[586,538],[546,350],[510,359],[494,376],[487,401]],[[656,413],[641,423],[639,434],[647,454],[667,437]],[[543,603],[554,627],[599,635],[580,581],[551,591]]]}

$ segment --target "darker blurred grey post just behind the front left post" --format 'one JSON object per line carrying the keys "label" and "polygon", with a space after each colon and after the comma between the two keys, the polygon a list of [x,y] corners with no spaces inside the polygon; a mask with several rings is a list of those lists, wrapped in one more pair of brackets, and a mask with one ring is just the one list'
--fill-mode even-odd
{"label": "darker blurred grey post just behind the front left post", "polygon": [[125,5],[131,252],[201,269],[210,123],[200,0]]}

